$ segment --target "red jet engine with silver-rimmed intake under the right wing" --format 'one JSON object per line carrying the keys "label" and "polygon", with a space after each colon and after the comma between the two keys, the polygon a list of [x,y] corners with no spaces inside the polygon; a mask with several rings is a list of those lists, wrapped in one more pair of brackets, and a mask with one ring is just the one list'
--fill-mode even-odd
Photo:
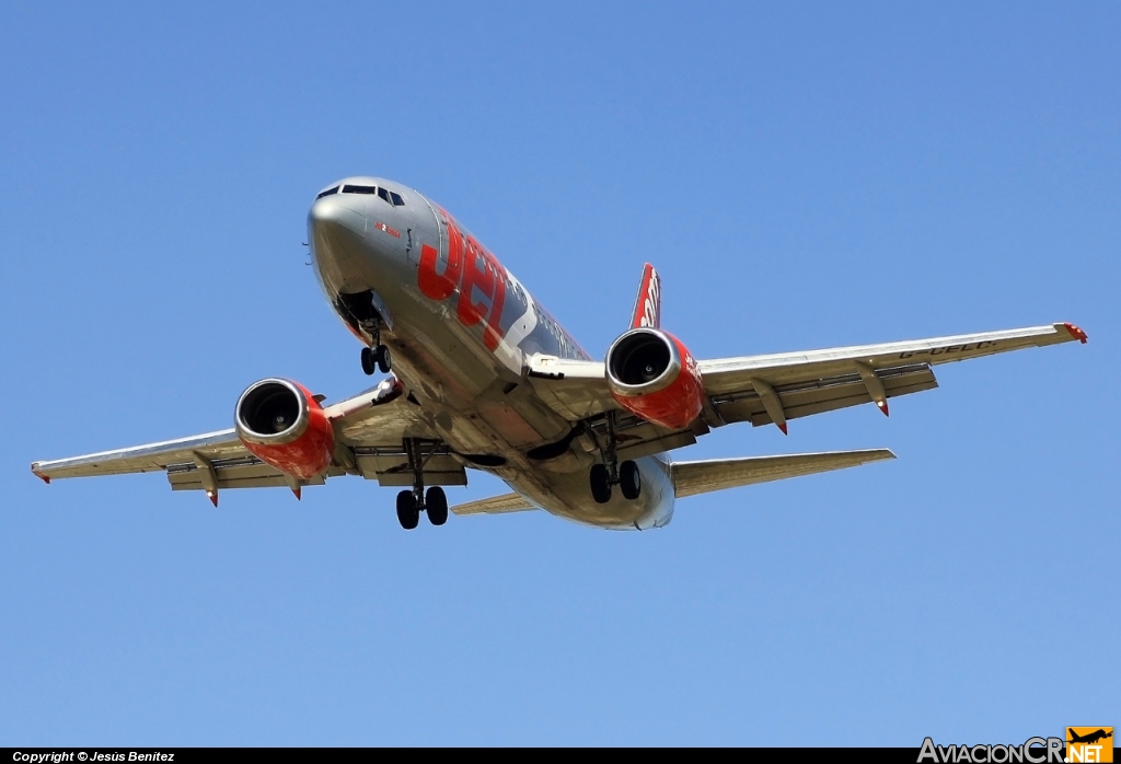
{"label": "red jet engine with silver-rimmed intake under the right wing", "polygon": [[637,417],[670,429],[693,423],[704,406],[697,362],[668,332],[631,329],[608,348],[608,386]]}

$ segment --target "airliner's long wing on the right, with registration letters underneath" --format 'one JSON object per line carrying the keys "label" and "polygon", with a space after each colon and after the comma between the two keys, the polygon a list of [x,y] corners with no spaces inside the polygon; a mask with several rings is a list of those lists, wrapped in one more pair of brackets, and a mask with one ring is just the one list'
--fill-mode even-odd
{"label": "airliner's long wing on the right, with registration letters underneath", "polygon": [[[697,365],[704,379],[706,401],[701,421],[689,429],[695,436],[707,427],[750,421],[757,427],[773,422],[785,431],[789,419],[870,402],[887,413],[889,398],[938,386],[932,371],[934,365],[1075,339],[1085,343],[1086,334],[1073,324],[1051,324],[701,361]],[[528,363],[528,376],[541,399],[571,421],[619,408],[608,390],[602,363],[535,355]],[[628,422],[624,417],[622,427],[636,423]],[[638,437],[658,437],[668,445],[665,439],[675,435],[649,423],[646,427],[650,429],[649,436]]]}

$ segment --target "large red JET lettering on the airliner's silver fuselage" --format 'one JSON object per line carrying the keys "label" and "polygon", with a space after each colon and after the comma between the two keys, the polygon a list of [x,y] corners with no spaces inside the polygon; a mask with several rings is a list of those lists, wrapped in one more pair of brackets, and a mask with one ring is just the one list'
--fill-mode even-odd
{"label": "large red JET lettering on the airliner's silver fuselage", "polygon": [[417,269],[420,292],[434,300],[445,300],[458,287],[456,317],[464,326],[475,326],[485,319],[483,344],[493,352],[502,341],[500,322],[506,305],[506,271],[473,236],[460,233],[447,213],[444,213],[444,222],[447,226],[447,265],[443,273],[437,272],[439,253],[428,244],[423,245]]}

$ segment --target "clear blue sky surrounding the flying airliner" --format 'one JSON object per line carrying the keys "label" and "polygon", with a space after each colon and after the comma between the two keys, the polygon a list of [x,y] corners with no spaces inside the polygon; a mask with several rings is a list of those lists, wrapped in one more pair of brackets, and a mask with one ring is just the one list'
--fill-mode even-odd
{"label": "clear blue sky surrounding the flying airliner", "polygon": [[[0,743],[1121,725],[1119,36],[1115,3],[4,4]],[[365,385],[300,244],[351,174],[437,199],[594,355],[647,260],[698,357],[1091,342],[943,366],[890,419],[714,432],[679,456],[899,458],[649,533],[29,474],[228,427],[263,376]]]}

